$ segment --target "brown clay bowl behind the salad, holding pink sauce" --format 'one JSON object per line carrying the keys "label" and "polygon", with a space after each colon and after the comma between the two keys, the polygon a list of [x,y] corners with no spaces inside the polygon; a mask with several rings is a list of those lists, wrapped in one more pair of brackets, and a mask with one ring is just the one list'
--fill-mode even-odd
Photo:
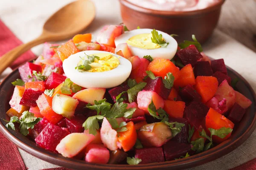
{"label": "brown clay bowl behind the salad, holding pink sauce", "polygon": [[151,28],[177,34],[177,42],[191,40],[195,34],[199,42],[204,43],[217,26],[221,6],[220,0],[214,6],[195,11],[157,11],[134,5],[127,0],[119,0],[122,20],[128,29]]}

